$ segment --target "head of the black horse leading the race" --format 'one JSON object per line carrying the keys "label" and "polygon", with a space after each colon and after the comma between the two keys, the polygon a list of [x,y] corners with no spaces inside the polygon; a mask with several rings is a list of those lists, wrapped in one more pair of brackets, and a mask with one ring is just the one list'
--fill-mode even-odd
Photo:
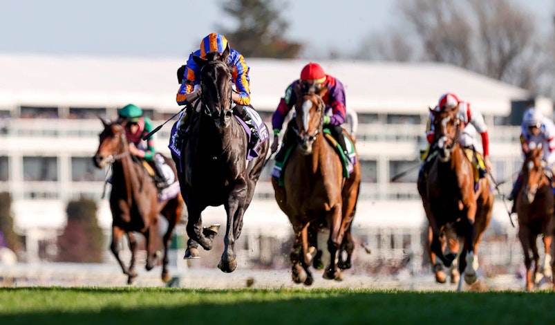
{"label": "head of the black horse leading the race", "polygon": [[232,69],[227,64],[228,57],[229,47],[222,54],[207,53],[206,59],[193,57],[200,67],[202,111],[220,129],[228,127],[232,118]]}

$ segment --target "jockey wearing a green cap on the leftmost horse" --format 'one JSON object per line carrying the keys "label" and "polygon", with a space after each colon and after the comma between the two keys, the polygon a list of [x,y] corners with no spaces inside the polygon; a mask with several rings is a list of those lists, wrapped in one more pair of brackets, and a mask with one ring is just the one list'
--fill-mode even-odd
{"label": "jockey wearing a green cap on the leftmost horse", "polygon": [[147,160],[149,165],[154,165],[154,167],[156,167],[156,186],[158,189],[168,187],[169,184],[162,170],[162,166],[165,163],[164,157],[160,154],[156,154],[153,137],[147,140],[146,145],[144,145],[142,141],[142,137],[146,136],[153,129],[150,118],[144,116],[142,109],[134,104],[128,104],[122,107],[118,115],[118,123],[124,126],[125,136],[129,142],[129,152],[133,156]]}

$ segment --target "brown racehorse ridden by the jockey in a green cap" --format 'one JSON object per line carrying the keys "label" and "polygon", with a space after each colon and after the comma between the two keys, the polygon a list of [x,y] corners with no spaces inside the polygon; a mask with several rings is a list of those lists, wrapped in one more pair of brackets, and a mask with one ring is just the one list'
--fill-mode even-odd
{"label": "brown racehorse ridden by the jockey in a green cap", "polygon": [[[158,239],[158,215],[162,214],[168,227],[162,242],[164,256],[162,258],[162,281],[168,282],[171,277],[168,270],[168,246],[170,245],[173,229],[181,218],[183,199],[181,194],[167,201],[158,201],[158,189],[149,172],[142,163],[129,152],[129,144],[125,136],[124,125],[100,118],[104,124],[104,131],[100,133],[100,145],[93,156],[96,167],[112,166],[112,190],[110,194],[110,209],[112,212],[112,243],[111,251],[120,263],[124,274],[128,276],[127,284],[132,284],[137,277],[135,272],[135,254],[138,250],[133,232],[140,232],[147,242],[147,265],[151,270],[155,263],[156,239]],[[171,159],[164,157],[167,165],[171,166],[174,174],[176,167]],[[176,176],[177,177],[177,176]],[[129,266],[120,258],[120,240],[127,234],[131,250]]]}

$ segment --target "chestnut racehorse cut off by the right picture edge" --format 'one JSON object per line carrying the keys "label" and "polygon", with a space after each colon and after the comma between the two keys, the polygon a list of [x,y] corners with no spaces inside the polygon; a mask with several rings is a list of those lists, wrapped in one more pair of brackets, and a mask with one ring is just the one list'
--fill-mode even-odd
{"label": "chestnut racehorse cut off by the right picture edge", "polygon": [[[550,262],[552,262],[552,234],[555,228],[555,200],[549,178],[545,175],[542,165],[542,146],[541,144],[538,146],[530,144],[529,147],[531,149],[526,153],[522,169],[523,188],[516,197],[516,212],[518,214],[518,238],[524,250],[526,290],[531,291],[534,288],[534,282],[538,283],[540,280],[540,255],[536,245],[540,234],[543,234],[545,248],[543,274],[548,281],[553,282],[553,266]],[[532,254],[530,254],[531,252]],[[532,259],[534,259],[534,272],[532,272]]]}

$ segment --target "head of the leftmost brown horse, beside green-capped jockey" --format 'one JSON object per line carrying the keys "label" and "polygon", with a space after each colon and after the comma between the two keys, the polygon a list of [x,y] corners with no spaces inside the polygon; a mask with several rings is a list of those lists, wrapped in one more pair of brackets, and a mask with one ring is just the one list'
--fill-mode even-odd
{"label": "head of the leftmost brown horse, beside green-capped jockey", "polygon": [[125,130],[122,124],[110,122],[106,118],[100,117],[104,130],[99,134],[100,144],[93,156],[93,163],[98,168],[114,163],[123,156],[129,154],[129,145],[125,137]]}

